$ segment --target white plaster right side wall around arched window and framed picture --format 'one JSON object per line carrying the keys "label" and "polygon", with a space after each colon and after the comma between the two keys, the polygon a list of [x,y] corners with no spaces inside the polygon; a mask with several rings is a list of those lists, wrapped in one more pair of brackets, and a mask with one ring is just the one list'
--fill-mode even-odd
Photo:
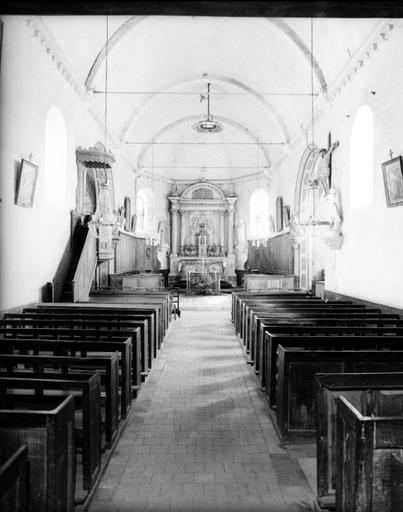
{"label": "white plaster right side wall around arched window and framed picture", "polygon": [[[333,183],[341,194],[344,243],[340,250],[326,249],[326,289],[399,308],[403,307],[403,207],[386,207],[381,164],[390,158],[390,149],[394,156],[403,154],[402,48],[403,31],[396,27],[315,124],[318,146],[327,145],[329,130],[332,140],[340,141],[333,154]],[[353,209],[350,135],[354,114],[364,104],[374,115],[374,173],[368,176],[374,197],[371,205]],[[305,147],[303,143],[296,147],[272,178],[273,189],[292,205]]]}

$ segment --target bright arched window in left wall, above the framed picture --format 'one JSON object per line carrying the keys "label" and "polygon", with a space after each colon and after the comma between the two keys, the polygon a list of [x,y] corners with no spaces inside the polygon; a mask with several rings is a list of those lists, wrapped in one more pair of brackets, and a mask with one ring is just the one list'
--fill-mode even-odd
{"label": "bright arched window in left wall, above the framed picture", "polygon": [[54,105],[46,117],[45,202],[63,210],[66,206],[67,130],[63,114]]}

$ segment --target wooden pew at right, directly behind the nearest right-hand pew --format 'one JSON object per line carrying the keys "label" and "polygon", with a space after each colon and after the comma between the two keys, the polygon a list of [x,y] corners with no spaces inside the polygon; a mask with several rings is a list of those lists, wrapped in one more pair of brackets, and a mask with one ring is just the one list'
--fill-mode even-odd
{"label": "wooden pew at right, directly behind the nearest right-hand pew", "polygon": [[[336,506],[336,400],[343,396],[365,416],[376,412],[379,398],[403,398],[403,373],[331,373],[316,376],[317,484],[321,507]],[[398,392],[398,395],[394,394]],[[401,415],[401,411],[400,411]],[[403,485],[403,481],[401,483]],[[401,502],[403,503],[403,502]],[[397,509],[396,509],[397,510]]]}

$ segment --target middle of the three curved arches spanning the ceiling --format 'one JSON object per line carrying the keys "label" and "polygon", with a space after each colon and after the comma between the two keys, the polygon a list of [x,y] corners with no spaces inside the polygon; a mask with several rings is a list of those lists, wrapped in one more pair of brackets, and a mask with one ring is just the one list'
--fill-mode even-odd
{"label": "middle of the three curved arches spanning the ceiling", "polygon": [[[194,82],[198,80],[215,80],[218,82],[224,82],[226,84],[233,85],[237,87],[238,89],[241,89],[254,98],[256,98],[261,105],[264,106],[266,111],[269,113],[269,115],[274,118],[276,124],[279,126],[280,131],[284,137],[284,141],[288,142],[290,140],[290,133],[287,127],[287,124],[285,123],[282,116],[277,112],[277,110],[271,105],[262,95],[260,95],[255,89],[252,87],[246,85],[245,83],[241,82],[240,80],[237,80],[235,78],[231,78],[229,76],[223,76],[223,75],[217,75],[217,74],[208,74],[204,73],[203,75],[194,75],[189,76],[185,78],[179,78],[177,80],[173,80],[169,83],[162,84],[158,90],[159,91],[169,91],[170,89],[173,89],[174,87],[178,85],[182,85],[188,82]],[[133,125],[133,123],[136,120],[137,115],[147,106],[147,104],[152,101],[156,96],[158,96],[158,92],[155,94],[150,94],[146,98],[144,98],[143,102],[140,106],[136,107],[131,114],[127,117],[126,122],[123,125],[122,131],[120,132],[119,139],[124,140],[127,133],[130,130],[130,127]]]}

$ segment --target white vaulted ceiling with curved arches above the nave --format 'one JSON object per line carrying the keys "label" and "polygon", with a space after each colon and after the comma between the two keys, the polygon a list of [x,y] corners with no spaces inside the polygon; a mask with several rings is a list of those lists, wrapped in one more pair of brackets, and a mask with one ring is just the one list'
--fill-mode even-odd
{"label": "white vaulted ceiling with curved arches above the nave", "polygon": [[[377,19],[42,16],[133,168],[172,179],[265,172]],[[311,49],[313,52],[311,52]],[[223,130],[199,133],[210,110]],[[105,91],[108,92],[105,95]]]}

